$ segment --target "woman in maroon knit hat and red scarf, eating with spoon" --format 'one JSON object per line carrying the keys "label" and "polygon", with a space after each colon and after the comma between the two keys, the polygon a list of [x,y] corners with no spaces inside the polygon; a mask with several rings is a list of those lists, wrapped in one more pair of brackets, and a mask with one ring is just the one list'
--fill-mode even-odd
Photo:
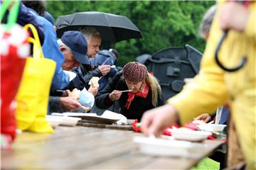
{"label": "woman in maroon knit hat and red scarf, eating with spoon", "polygon": [[109,108],[114,101],[118,101],[122,115],[139,121],[144,111],[164,104],[159,83],[139,62],[125,64],[95,97],[96,106],[102,109]]}

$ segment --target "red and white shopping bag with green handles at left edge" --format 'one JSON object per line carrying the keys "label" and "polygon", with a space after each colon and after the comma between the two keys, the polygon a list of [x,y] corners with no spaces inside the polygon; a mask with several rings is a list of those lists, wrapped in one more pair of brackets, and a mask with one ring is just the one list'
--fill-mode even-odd
{"label": "red and white shopping bag with green handles at left edge", "polygon": [[[6,9],[14,1],[4,1],[1,5],[0,21],[4,18]],[[0,25],[1,53],[1,135],[16,134],[16,119],[14,115],[14,97],[23,73],[23,67],[30,52],[27,41],[28,33],[16,23],[19,1],[11,7],[8,23]]]}

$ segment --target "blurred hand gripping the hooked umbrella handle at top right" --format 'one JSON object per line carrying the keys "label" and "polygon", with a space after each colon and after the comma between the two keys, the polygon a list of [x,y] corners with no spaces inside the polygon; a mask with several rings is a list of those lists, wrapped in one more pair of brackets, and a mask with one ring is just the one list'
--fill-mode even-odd
{"label": "blurred hand gripping the hooked umbrella handle at top right", "polygon": [[250,13],[245,6],[238,2],[230,1],[220,8],[220,28],[242,32],[245,30],[249,15]]}

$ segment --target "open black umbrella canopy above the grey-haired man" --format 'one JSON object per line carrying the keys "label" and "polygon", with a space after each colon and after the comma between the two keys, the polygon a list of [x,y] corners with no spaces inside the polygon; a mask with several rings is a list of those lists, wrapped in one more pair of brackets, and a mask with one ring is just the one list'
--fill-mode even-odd
{"label": "open black umbrella canopy above the grey-haired man", "polygon": [[58,38],[67,30],[79,30],[83,26],[95,27],[102,40],[118,42],[131,38],[142,38],[141,31],[126,16],[112,13],[87,11],[59,16],[55,22]]}

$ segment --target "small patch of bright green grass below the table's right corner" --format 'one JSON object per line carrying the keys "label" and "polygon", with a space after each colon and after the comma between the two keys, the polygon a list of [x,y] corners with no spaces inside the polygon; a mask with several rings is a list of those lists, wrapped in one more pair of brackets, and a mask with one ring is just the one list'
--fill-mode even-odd
{"label": "small patch of bright green grass below the table's right corner", "polygon": [[191,170],[218,170],[220,169],[220,163],[213,161],[213,159],[205,158],[194,166]]}

